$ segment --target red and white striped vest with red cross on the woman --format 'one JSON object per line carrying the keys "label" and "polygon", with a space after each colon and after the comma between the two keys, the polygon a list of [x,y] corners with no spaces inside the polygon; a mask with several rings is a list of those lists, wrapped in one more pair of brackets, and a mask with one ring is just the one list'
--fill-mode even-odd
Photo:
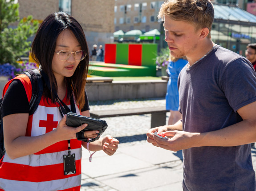
{"label": "red and white striped vest with red cross on the woman", "polygon": [[[31,83],[22,74],[19,79],[26,90],[28,101],[31,98]],[[4,87],[6,92],[10,82]],[[70,101],[64,98],[70,108]],[[76,105],[77,111],[79,111]],[[80,113],[78,113],[80,114]],[[36,112],[29,116],[26,136],[38,136],[55,129],[61,114],[55,104],[42,96]],[[70,142],[71,154],[76,157],[76,174],[64,175],[63,155],[68,154],[68,141],[53,144],[40,152],[14,160],[7,154],[0,164],[0,191],[80,191],[81,187],[81,141]]]}

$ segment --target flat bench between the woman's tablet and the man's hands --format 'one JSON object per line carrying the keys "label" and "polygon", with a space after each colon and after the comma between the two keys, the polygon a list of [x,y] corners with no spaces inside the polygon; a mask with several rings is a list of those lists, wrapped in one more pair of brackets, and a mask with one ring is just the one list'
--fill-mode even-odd
{"label": "flat bench between the woman's tablet and the man's hands", "polygon": [[132,108],[132,109],[90,111],[90,115],[93,118],[103,118],[103,117],[151,114],[151,128],[154,128],[154,127],[166,125],[167,112],[169,111],[165,109],[165,106],[159,106],[159,107],[145,107],[145,108]]}

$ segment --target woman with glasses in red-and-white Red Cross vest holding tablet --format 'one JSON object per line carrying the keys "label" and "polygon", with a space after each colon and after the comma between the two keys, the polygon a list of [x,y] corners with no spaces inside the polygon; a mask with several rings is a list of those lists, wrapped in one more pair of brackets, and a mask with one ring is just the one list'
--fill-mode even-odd
{"label": "woman with glasses in red-and-white Red Cross vest holding tablet", "polygon": [[[29,78],[20,75],[4,88],[6,153],[0,166],[0,190],[80,191],[81,146],[113,155],[119,144],[105,136],[88,145],[76,139],[76,133],[87,124],[77,128],[65,125],[58,100],[69,108],[74,105],[73,112],[89,116],[85,92],[89,52],[81,25],[64,12],[49,15],[37,31],[31,52],[40,63],[44,92],[37,110],[29,116]],[[94,138],[97,133],[86,131],[84,136]],[[65,168],[64,163],[68,165]]]}

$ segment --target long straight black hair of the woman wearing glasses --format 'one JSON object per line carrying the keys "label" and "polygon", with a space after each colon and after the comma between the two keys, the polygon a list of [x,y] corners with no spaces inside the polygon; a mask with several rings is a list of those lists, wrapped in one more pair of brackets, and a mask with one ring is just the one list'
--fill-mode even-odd
{"label": "long straight black hair of the woman wearing glasses", "polygon": [[[31,55],[41,65],[41,69],[48,75],[51,88],[57,90],[57,82],[52,70],[52,60],[55,54],[57,38],[66,29],[73,32],[81,45],[81,50],[87,55],[85,59],[80,61],[73,76],[65,78],[67,87],[73,91],[77,103],[82,105],[80,107],[82,108],[85,103],[85,83],[88,74],[89,51],[84,31],[78,21],[65,12],[56,12],[47,16],[41,23],[32,43]],[[48,92],[47,96],[51,94],[52,101],[54,101],[54,96],[51,92]]]}

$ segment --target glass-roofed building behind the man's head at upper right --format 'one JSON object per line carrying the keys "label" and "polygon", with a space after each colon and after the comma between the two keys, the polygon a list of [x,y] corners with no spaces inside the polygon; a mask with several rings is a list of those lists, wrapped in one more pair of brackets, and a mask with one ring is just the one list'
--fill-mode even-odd
{"label": "glass-roofed building behind the man's head at upper right", "polygon": [[240,55],[248,43],[256,43],[256,16],[236,6],[214,4],[211,38]]}

